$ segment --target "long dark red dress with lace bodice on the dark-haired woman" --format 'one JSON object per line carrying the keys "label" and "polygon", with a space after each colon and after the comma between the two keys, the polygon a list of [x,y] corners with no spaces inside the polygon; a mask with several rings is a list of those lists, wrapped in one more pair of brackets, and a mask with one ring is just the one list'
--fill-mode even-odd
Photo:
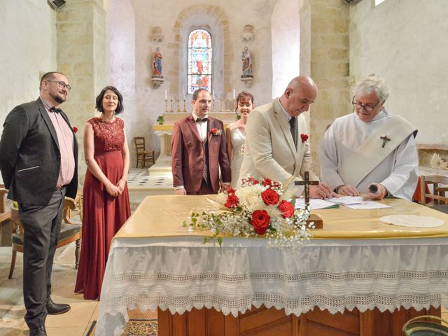
{"label": "long dark red dress with lace bodice on the dark-haired woman", "polygon": [[[94,160],[116,185],[123,176],[123,120],[115,118],[108,123],[92,118],[88,122],[94,131]],[[113,197],[87,169],[83,189],[83,239],[75,286],[75,292],[83,293],[85,299],[99,298],[112,237],[130,215],[127,185],[121,195]]]}

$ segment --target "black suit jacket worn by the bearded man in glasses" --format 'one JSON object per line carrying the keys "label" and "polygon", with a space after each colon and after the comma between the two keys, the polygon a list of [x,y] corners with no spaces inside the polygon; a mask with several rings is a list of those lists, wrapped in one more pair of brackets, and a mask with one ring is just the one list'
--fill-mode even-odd
{"label": "black suit jacket worn by the bearded man in glasses", "polygon": [[[61,115],[70,125],[65,113]],[[74,133],[73,144],[75,174],[66,186],[66,196],[72,198],[78,190],[78,142]],[[10,111],[0,140],[0,171],[5,188],[9,189],[8,198],[47,205],[56,190],[60,159],[55,127],[40,98]]]}

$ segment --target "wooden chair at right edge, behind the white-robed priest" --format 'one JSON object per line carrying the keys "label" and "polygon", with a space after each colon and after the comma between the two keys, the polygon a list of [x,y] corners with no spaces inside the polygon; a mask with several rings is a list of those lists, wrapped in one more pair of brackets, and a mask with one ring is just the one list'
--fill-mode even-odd
{"label": "wooden chair at right edge, behind the white-robed priest", "polygon": [[[433,187],[433,193],[428,193],[426,186]],[[448,213],[448,177],[442,175],[421,176],[421,204],[435,210]]]}

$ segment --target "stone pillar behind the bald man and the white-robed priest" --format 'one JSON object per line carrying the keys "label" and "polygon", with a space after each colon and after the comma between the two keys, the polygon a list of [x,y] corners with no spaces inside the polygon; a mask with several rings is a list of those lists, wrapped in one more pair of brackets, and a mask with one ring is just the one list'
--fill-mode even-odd
{"label": "stone pillar behind the bald man and the white-robed priest", "polygon": [[318,148],[328,125],[351,112],[349,87],[349,5],[340,0],[300,1],[300,73],[318,86],[311,106],[311,153],[318,167]]}

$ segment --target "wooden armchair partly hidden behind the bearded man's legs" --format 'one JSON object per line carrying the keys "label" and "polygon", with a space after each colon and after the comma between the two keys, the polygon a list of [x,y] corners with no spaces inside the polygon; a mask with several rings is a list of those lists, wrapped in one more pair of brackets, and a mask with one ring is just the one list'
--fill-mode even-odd
{"label": "wooden armchair partly hidden behind the bearded man's legs", "polygon": [[[80,195],[78,195],[80,197]],[[78,196],[76,199],[78,199]],[[80,207],[80,209],[78,209]],[[78,269],[79,264],[79,253],[80,253],[80,242],[82,235],[82,220],[78,223],[73,223],[71,218],[76,211],[80,211],[77,213],[80,218],[82,216],[82,201],[73,200],[73,198],[65,197],[64,200],[64,213],[62,214],[62,227],[61,233],[59,234],[59,243],[57,247],[65,246],[66,244],[70,244],[72,241],[76,241],[75,248],[75,269]],[[72,216],[71,216],[72,215]],[[23,253],[23,226],[20,221],[19,209],[15,207],[10,208],[10,217],[11,221],[13,221],[13,233],[12,233],[12,245],[13,245],[13,255],[11,258],[11,266],[9,269],[8,279],[13,277],[14,267],[15,267],[15,257],[18,252]]]}

